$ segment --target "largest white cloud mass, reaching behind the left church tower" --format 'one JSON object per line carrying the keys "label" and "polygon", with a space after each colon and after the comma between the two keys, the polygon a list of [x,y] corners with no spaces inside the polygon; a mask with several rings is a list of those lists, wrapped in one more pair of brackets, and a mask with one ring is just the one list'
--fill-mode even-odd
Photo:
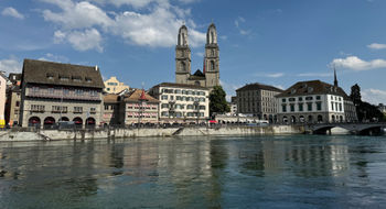
{"label": "largest white cloud mass, reaching behind the left church tower", "polygon": [[[67,40],[75,50],[97,50],[101,52],[101,36],[112,34],[122,37],[127,43],[150,46],[170,47],[176,43],[179,28],[183,20],[189,24],[190,44],[193,47],[201,46],[206,41],[205,33],[195,30],[193,20],[189,19],[190,10],[183,10],[171,6],[168,0],[119,0],[115,4],[130,4],[144,7],[152,3],[146,12],[122,11],[119,13],[104,10],[89,2],[75,2],[72,0],[41,0],[62,9],[62,12],[45,10],[44,20],[54,22],[61,26],[54,34],[55,43]],[[107,3],[105,0],[94,0]],[[112,3],[112,1],[110,2]],[[84,32],[81,34],[81,30]],[[73,35],[72,35],[73,34]],[[82,35],[76,37],[76,35]],[[90,37],[93,40],[87,41]],[[86,44],[81,42],[86,41]],[[92,42],[97,41],[94,45]]]}

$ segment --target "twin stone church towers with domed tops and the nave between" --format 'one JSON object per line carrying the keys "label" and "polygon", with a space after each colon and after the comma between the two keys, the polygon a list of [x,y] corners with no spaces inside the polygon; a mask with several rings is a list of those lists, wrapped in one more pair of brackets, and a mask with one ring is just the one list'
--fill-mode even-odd
{"label": "twin stone church towers with domed tops and the nave between", "polygon": [[206,32],[203,72],[191,74],[191,48],[189,47],[187,28],[182,25],[175,46],[175,82],[196,85],[213,89],[219,86],[219,50],[216,26],[212,23]]}

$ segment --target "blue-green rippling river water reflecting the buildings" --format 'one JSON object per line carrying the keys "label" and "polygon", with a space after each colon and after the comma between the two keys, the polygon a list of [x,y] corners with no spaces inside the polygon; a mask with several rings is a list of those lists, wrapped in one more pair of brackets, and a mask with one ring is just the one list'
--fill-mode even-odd
{"label": "blue-green rippling river water reflecting the buildings", "polygon": [[385,208],[385,136],[0,143],[0,208]]}

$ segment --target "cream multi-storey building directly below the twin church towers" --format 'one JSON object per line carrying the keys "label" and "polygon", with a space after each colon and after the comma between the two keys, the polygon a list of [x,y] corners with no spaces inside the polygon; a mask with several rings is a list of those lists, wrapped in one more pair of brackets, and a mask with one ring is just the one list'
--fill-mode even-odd
{"label": "cream multi-storey building directly below the twin church towers", "polygon": [[149,90],[160,101],[160,122],[200,123],[210,117],[208,88],[162,82]]}

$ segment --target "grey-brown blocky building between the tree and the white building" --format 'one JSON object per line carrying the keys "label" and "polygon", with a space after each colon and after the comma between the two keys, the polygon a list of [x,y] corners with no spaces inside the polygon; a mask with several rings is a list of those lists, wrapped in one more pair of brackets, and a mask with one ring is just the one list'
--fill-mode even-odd
{"label": "grey-brown blocky building between the tree and the white building", "polygon": [[236,90],[238,113],[250,114],[259,120],[277,122],[276,96],[283,90],[262,84],[248,84]]}

